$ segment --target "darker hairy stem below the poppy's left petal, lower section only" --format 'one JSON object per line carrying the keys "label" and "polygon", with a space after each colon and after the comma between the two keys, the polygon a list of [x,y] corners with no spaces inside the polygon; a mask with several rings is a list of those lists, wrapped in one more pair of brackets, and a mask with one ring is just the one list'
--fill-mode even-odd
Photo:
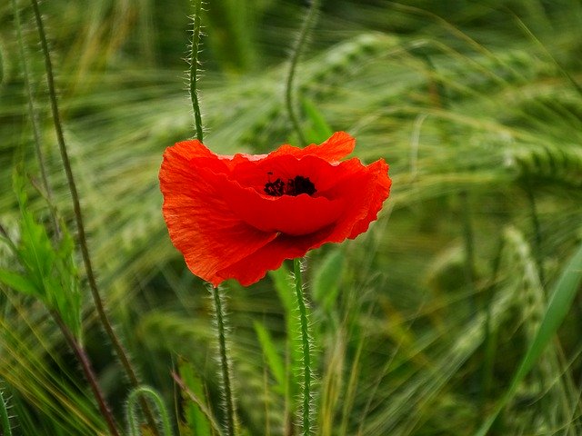
{"label": "darker hairy stem below the poppy's left petal, lower section only", "polygon": [[223,308],[223,296],[218,287],[212,286],[212,296],[215,302],[216,327],[218,333],[218,352],[220,353],[220,366],[222,370],[222,396],[226,406],[226,436],[235,435],[235,401],[230,383],[230,367],[226,355],[226,329],[225,310]]}

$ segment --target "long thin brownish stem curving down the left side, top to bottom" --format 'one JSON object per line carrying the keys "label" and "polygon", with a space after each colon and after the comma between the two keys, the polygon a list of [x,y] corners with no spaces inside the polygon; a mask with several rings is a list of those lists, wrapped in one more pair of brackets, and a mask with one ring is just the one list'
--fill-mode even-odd
{"label": "long thin brownish stem curving down the left side, top to bottom", "polygon": [[[83,213],[81,212],[81,203],[79,200],[79,194],[76,189],[73,169],[71,167],[71,162],[69,160],[69,156],[66,150],[65,135],[63,134],[61,117],[58,110],[58,104],[56,102],[55,76],[53,74],[53,64],[51,62],[51,56],[48,51],[48,44],[46,42],[45,25],[43,25],[43,19],[41,17],[40,9],[38,7],[38,1],[31,0],[31,4],[33,6],[33,11],[35,13],[36,28],[38,30],[41,48],[45,57],[46,84],[48,86],[48,94],[51,102],[53,123],[55,124],[56,141],[58,143],[59,151],[61,154],[61,160],[63,161],[63,167],[65,169],[66,174],[66,181],[69,187],[69,191],[71,193],[71,200],[73,201],[73,210],[75,212],[75,222],[78,233],[78,242],[79,246],[81,247],[83,263],[85,264],[87,281],[89,282],[89,288],[91,290],[93,301],[95,303],[95,310],[99,315],[99,321],[103,325],[105,332],[107,333],[107,336],[113,343],[115,353],[117,354],[118,359],[122,363],[129,380],[135,387],[138,387],[140,383],[137,379],[137,375],[135,374],[134,368],[131,362],[129,361],[129,358],[124,350],[123,345],[115,335],[113,326],[109,321],[107,314],[105,313],[105,306],[103,304],[103,301],[101,300],[101,295],[99,294],[99,290],[97,288],[95,273],[93,272],[93,264],[91,263],[91,257],[89,255],[89,248],[87,246],[85,236],[85,223],[83,221]],[[159,432],[157,431],[156,428],[156,420],[154,419],[154,415],[152,414],[152,412],[149,410],[146,401],[142,401],[142,406],[144,407],[144,411],[146,412],[147,416],[147,421],[150,424],[152,431],[154,431],[156,435],[159,435]]]}

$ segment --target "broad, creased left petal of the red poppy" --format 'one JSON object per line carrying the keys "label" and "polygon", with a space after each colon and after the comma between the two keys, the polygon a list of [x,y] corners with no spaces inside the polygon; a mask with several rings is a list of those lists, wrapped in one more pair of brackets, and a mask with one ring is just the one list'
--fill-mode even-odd
{"label": "broad, creased left petal of the red poppy", "polygon": [[166,150],[160,169],[164,218],[190,271],[217,286],[225,280],[216,274],[219,269],[256,252],[276,233],[261,232],[237,217],[213,183],[224,175],[192,166],[212,159],[191,160],[196,150],[181,144]]}

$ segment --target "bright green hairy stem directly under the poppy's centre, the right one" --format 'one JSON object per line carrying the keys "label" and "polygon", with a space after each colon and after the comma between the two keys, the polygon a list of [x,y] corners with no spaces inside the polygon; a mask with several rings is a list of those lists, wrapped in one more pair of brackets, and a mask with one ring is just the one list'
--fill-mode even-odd
{"label": "bright green hairy stem directly under the poppy's centre, the right one", "polygon": [[301,279],[301,260],[293,260],[295,272],[295,287],[297,306],[301,322],[301,343],[303,349],[303,434],[311,434],[311,338],[309,335],[309,320],[307,318],[306,301],[303,295],[303,280]]}

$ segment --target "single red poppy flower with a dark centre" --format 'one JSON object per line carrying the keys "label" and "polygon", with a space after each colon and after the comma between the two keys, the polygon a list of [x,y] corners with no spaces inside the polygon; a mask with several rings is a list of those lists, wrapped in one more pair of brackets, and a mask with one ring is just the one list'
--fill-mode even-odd
{"label": "single red poppy flower with a dark centre", "polygon": [[217,286],[258,282],[285,259],[366,232],[390,192],[383,159],[363,165],[338,132],[270,154],[212,153],[199,141],[168,147],[160,169],[163,213],[190,271]]}

